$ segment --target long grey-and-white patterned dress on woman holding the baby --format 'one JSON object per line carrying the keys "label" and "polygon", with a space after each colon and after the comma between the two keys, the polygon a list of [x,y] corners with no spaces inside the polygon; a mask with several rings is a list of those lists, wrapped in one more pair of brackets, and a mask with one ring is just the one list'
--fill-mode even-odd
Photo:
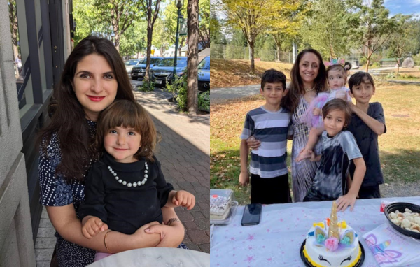
{"label": "long grey-and-white patterned dress on woman holding the baby", "polygon": [[[293,202],[302,202],[306,196],[308,189],[312,185],[315,178],[316,170],[318,169],[318,162],[311,162],[309,159],[304,159],[296,162],[295,159],[300,151],[307,144],[309,131],[311,129],[304,121],[309,103],[300,96],[299,103],[292,114],[293,124],[293,146],[292,146],[292,187],[293,187]],[[315,146],[316,154],[321,153],[321,142]]]}

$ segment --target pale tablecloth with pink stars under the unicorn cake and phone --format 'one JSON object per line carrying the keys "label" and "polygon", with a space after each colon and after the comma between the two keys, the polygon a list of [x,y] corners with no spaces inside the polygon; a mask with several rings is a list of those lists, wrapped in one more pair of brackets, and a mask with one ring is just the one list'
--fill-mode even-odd
{"label": "pale tablecloth with pink stars under the unicorn cake and phone", "polygon": [[[381,201],[409,202],[420,205],[420,197],[363,199],[351,212],[338,213],[358,233],[365,249],[363,267],[377,267],[372,252],[362,236],[387,223],[380,212]],[[241,226],[244,207],[239,206],[228,225],[215,225],[211,241],[211,266],[304,266],[300,245],[314,222],[330,216],[331,201],[264,205],[260,224]],[[410,265],[420,267],[420,264]]]}

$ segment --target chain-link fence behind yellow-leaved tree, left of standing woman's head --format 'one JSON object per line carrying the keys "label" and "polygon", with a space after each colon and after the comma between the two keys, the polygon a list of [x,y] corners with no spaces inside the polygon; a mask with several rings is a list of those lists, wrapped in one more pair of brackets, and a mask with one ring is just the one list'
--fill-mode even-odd
{"label": "chain-link fence behind yellow-leaved tree, left of standing woman's head", "polygon": [[[249,48],[235,45],[210,45],[210,55],[214,59],[247,59],[249,60]],[[276,50],[255,48],[254,59],[260,59],[265,62],[276,62],[278,60]],[[281,62],[293,62],[292,53],[280,52]]]}

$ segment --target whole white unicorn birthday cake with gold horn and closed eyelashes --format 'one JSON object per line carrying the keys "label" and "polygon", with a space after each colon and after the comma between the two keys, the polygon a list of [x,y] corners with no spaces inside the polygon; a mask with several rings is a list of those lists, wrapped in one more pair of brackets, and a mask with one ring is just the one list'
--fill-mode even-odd
{"label": "whole white unicorn birthday cake with gold horn and closed eyelashes", "polygon": [[338,222],[335,201],[330,218],[309,229],[303,254],[316,267],[353,267],[360,261],[362,250],[357,233],[346,222]]}

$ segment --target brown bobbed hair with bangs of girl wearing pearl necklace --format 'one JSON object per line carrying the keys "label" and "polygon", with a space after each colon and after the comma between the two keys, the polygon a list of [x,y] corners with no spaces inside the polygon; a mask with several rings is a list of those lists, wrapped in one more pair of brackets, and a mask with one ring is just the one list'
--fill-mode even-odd
{"label": "brown bobbed hair with bangs of girl wearing pearl necklace", "polygon": [[134,154],[136,159],[147,157],[153,160],[153,150],[158,140],[155,124],[148,115],[148,112],[140,106],[139,103],[130,100],[114,101],[98,117],[97,136],[94,142],[94,148],[97,151],[97,157],[104,152],[104,138],[110,129],[116,127],[133,128],[141,135],[141,147]]}

